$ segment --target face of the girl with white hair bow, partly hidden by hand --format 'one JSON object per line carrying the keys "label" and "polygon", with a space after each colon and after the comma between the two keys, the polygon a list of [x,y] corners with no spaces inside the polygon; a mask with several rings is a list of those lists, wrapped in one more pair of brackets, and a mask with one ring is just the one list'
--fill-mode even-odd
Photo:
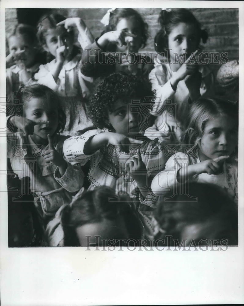
{"label": "face of the girl with white hair bow, partly hidden by hand", "polygon": [[135,52],[137,53],[142,45],[142,31],[139,21],[134,17],[122,18],[117,23],[116,31],[124,31],[135,34],[137,37],[125,37],[127,46],[117,46],[118,52]]}

